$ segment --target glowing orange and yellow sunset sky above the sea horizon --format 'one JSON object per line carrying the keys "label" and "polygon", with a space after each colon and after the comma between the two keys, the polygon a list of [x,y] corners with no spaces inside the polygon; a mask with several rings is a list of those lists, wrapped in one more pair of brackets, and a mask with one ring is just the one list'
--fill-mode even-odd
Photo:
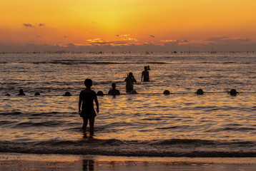
{"label": "glowing orange and yellow sunset sky above the sea horizon", "polygon": [[256,50],[255,0],[1,0],[0,6],[1,51],[31,44]]}

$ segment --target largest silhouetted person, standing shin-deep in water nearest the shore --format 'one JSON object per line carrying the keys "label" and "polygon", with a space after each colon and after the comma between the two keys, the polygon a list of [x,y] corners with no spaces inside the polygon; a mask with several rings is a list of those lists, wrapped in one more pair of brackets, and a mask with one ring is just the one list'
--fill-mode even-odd
{"label": "largest silhouetted person, standing shin-deep in water nearest the shore", "polygon": [[[94,132],[94,118],[96,116],[95,110],[94,110],[94,101],[97,106],[97,113],[99,113],[99,102],[97,99],[97,95],[94,90],[91,89],[92,87],[92,80],[86,79],[84,81],[84,86],[86,88],[80,92],[79,95],[79,115],[83,118],[84,124],[82,126],[82,130],[87,129],[87,124],[89,120],[89,131],[90,133]],[[82,110],[81,110],[81,104],[82,104]]]}

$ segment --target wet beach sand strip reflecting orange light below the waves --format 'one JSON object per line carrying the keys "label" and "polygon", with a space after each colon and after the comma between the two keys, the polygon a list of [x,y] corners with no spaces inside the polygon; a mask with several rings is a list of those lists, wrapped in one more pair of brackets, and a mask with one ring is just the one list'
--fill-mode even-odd
{"label": "wet beach sand strip reflecting orange light below the waves", "polygon": [[0,170],[256,170],[256,158],[119,157],[0,153]]}

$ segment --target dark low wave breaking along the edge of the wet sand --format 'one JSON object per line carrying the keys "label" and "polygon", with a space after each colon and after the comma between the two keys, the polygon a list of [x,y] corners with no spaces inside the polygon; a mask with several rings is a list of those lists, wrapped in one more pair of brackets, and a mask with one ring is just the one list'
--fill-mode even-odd
{"label": "dark low wave breaking along the edge of the wet sand", "polygon": [[0,152],[154,157],[256,157],[256,142],[214,140],[49,140],[0,141]]}

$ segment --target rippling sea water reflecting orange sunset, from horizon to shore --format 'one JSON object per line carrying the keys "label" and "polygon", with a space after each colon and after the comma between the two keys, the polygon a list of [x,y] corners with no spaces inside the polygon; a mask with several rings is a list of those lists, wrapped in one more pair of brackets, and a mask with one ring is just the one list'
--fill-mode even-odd
{"label": "rippling sea water reflecting orange sunset, from horizon to shore", "polygon": [[[0,152],[256,157],[256,53],[5,53],[0,67]],[[125,93],[129,72],[138,94]],[[122,93],[98,96],[94,135],[78,114],[85,78]]]}

